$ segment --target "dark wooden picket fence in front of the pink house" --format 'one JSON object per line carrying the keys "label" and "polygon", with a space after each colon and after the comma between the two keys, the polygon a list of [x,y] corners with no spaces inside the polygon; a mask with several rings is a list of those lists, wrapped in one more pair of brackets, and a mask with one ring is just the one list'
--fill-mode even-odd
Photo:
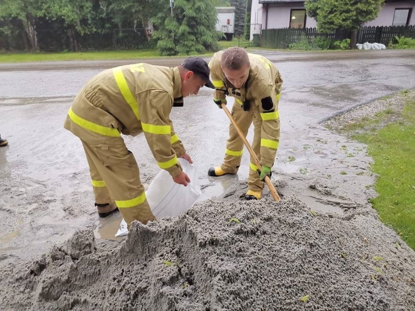
{"label": "dark wooden picket fence in front of the pink house", "polygon": [[[365,26],[358,29],[356,43],[383,43],[388,45],[395,37],[415,38],[415,25],[411,26]],[[261,34],[261,46],[264,48],[287,49],[290,44],[297,43],[306,38],[312,43],[315,38],[323,37],[333,40],[343,40],[349,37],[349,32],[337,30],[331,34],[319,33],[317,28],[280,28],[263,29]]]}

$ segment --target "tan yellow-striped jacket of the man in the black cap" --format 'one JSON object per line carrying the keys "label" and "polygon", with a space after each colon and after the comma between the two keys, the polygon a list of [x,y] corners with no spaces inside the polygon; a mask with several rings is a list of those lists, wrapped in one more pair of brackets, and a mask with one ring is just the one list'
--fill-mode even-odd
{"label": "tan yellow-striped jacket of the man in the black cap", "polygon": [[145,63],[120,66],[95,75],[78,93],[64,128],[91,146],[123,144],[120,133],[144,132],[158,165],[178,175],[177,157],[186,150],[170,120],[173,106],[183,106],[177,67]]}

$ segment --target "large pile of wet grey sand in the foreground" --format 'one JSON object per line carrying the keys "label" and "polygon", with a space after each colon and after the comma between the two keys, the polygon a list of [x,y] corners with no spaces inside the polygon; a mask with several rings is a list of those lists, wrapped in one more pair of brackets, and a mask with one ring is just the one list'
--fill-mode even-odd
{"label": "large pile of wet grey sand in the foreground", "polygon": [[1,310],[415,310],[415,253],[372,209],[295,197],[200,202],[123,242],[78,231],[0,275]]}

